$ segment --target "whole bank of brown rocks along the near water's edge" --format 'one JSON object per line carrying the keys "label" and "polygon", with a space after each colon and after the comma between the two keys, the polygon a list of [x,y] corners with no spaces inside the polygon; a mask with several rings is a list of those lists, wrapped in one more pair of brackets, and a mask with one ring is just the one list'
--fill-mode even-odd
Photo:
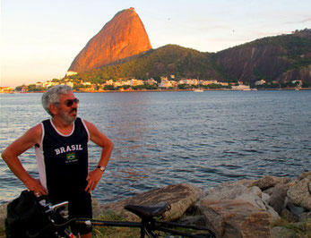
{"label": "whole bank of brown rocks along the near water's edge", "polygon": [[[208,191],[179,183],[106,205],[93,202],[94,217],[115,214],[139,220],[125,204],[167,201],[167,220],[205,225],[217,237],[311,237],[311,171],[297,178],[266,175],[258,180],[221,183]],[[4,225],[6,204],[0,207]],[[289,224],[290,225],[287,225]]]}

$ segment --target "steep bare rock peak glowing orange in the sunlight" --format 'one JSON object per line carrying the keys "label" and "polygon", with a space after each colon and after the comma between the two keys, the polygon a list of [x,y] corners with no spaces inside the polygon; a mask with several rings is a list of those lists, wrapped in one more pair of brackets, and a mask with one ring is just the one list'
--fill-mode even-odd
{"label": "steep bare rock peak glowing orange in the sunlight", "polygon": [[87,72],[151,49],[143,21],[134,8],[117,13],[74,58],[68,72]]}

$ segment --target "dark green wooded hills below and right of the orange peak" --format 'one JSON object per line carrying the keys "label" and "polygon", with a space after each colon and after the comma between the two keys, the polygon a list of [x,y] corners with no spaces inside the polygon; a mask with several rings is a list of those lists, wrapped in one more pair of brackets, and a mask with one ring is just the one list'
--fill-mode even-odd
{"label": "dark green wooded hills below and right of the orange peak", "polygon": [[218,53],[167,45],[151,49],[122,64],[112,64],[73,79],[101,83],[110,79],[136,78],[160,80],[200,78],[218,81],[311,81],[311,30],[256,39]]}

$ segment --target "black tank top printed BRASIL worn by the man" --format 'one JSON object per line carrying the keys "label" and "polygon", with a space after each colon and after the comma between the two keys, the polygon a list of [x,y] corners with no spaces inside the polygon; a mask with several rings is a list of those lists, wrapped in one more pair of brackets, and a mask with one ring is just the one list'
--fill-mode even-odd
{"label": "black tank top printed BRASIL worn by the man", "polygon": [[[73,132],[62,135],[51,120],[43,121],[42,149],[46,169],[48,195],[53,200],[60,194],[77,196],[87,186],[89,171],[89,133],[82,119],[74,121]],[[62,197],[62,196],[61,196]]]}

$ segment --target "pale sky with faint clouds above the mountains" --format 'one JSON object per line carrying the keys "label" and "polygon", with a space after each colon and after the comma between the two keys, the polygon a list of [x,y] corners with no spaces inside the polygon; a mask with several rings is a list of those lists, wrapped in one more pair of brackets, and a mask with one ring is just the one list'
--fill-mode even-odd
{"label": "pale sky with faint clouds above the mountains", "polygon": [[65,76],[115,14],[134,7],[152,48],[218,52],[311,29],[309,0],[0,0],[0,87]]}

